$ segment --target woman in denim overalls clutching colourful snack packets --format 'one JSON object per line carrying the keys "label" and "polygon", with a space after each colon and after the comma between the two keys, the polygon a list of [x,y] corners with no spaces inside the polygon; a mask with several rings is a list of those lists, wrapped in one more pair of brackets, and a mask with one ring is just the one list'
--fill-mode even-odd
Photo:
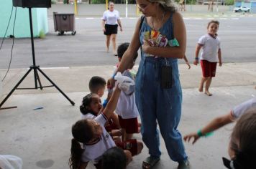
{"label": "woman in denim overalls clutching colourful snack packets", "polygon": [[[139,19],[129,48],[122,57],[117,72],[127,69],[138,49],[142,49],[140,67],[136,77],[136,103],[142,120],[142,140],[149,148],[150,157],[143,161],[143,168],[152,168],[160,160],[160,138],[170,158],[179,163],[178,169],[189,168],[188,157],[177,127],[180,121],[182,91],[178,74],[178,61],[186,51],[186,27],[182,16],[175,11],[171,0],[137,0],[145,19]],[[142,24],[141,24],[142,22]],[[168,40],[177,39],[178,47],[152,47],[144,40],[144,32],[159,31]],[[163,67],[171,67],[168,87],[161,85]],[[113,84],[114,79],[109,79]]]}

